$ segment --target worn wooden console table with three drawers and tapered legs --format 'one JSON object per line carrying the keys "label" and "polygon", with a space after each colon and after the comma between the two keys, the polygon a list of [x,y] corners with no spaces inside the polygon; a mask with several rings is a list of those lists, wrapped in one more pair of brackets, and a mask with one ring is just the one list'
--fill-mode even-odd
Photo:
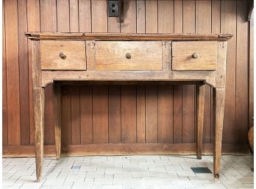
{"label": "worn wooden console table with three drawers and tapered legs", "polygon": [[[202,156],[205,84],[213,88],[214,176],[218,178],[224,116],[227,40],[232,35],[26,32],[32,40],[37,182],[43,163],[44,88],[54,83],[56,157],[60,157],[57,81],[165,81],[196,84],[197,157]],[[56,83],[56,85],[55,85]]]}

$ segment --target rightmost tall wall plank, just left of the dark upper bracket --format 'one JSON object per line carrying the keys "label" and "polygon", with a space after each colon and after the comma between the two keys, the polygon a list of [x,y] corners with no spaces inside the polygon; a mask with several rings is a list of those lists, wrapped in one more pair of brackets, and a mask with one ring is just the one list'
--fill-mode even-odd
{"label": "rightmost tall wall plank, just left of the dark upper bracket", "polygon": [[[239,8],[238,8],[239,7]],[[247,142],[247,130],[249,128],[249,25],[247,17],[246,1],[238,1],[237,4],[237,49],[236,49],[236,80],[235,80],[235,142]],[[239,134],[238,134],[239,133]]]}

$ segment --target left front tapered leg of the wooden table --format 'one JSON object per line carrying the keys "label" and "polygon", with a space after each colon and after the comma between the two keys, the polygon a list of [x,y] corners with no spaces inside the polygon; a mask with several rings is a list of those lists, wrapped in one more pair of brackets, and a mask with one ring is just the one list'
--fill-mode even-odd
{"label": "left front tapered leg of the wooden table", "polygon": [[43,166],[44,88],[33,88],[33,104],[35,121],[35,165],[37,182],[40,182]]}

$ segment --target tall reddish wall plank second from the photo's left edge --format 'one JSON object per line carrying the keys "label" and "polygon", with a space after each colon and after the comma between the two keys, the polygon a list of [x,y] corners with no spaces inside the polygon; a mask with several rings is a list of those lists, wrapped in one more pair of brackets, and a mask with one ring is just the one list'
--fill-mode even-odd
{"label": "tall reddish wall plank second from the photo's left edge", "polygon": [[4,1],[8,144],[21,145],[17,1]]}

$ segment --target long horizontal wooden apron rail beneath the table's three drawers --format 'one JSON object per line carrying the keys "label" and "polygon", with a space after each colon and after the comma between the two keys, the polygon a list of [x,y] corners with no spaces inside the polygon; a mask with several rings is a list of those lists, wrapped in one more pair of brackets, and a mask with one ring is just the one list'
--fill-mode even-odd
{"label": "long horizontal wooden apron rail beneath the table's three drawers", "polygon": [[[214,71],[42,71],[42,86],[57,81],[205,81],[216,85]],[[141,77],[143,76],[143,77]]]}

